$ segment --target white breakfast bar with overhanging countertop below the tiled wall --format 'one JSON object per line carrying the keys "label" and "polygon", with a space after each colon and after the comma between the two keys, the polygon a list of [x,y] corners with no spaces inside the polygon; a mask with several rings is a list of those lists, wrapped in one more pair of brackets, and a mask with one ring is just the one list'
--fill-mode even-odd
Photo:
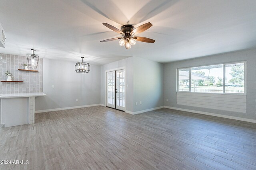
{"label": "white breakfast bar with overhanging countertop below the tiled wall", "polygon": [[4,127],[35,123],[35,97],[44,93],[0,94],[0,124]]}

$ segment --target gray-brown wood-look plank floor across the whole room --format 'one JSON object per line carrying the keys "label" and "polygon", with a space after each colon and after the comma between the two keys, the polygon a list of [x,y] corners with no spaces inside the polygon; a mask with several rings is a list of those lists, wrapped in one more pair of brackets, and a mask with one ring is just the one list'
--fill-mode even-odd
{"label": "gray-brown wood-look plank floor across the whole room", "polygon": [[256,124],[159,109],[130,115],[102,106],[37,113],[0,129],[1,170],[256,169]]}

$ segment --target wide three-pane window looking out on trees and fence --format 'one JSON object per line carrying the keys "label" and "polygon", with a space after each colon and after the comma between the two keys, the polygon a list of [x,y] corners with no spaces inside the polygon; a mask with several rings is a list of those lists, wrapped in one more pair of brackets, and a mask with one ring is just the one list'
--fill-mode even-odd
{"label": "wide three-pane window looking out on trees and fence", "polygon": [[244,65],[245,62],[178,69],[178,91],[244,94]]}

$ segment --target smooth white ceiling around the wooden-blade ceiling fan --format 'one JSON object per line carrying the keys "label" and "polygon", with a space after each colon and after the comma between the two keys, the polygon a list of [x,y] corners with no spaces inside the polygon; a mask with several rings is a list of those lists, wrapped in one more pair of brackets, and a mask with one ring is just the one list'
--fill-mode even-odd
{"label": "smooth white ceiling around the wooden-blade ceiling fan", "polygon": [[[102,23],[153,24],[126,50]],[[0,0],[0,53],[106,64],[130,56],[168,63],[256,47],[256,0]]]}

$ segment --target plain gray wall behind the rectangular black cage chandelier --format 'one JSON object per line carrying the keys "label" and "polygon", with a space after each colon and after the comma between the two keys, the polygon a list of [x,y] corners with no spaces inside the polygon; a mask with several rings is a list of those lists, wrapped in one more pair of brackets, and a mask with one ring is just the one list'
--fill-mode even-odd
{"label": "plain gray wall behind the rectangular black cage chandelier", "polygon": [[100,66],[91,65],[90,72],[83,74],[76,73],[74,65],[75,62],[44,59],[46,96],[36,98],[36,111],[100,104]]}

